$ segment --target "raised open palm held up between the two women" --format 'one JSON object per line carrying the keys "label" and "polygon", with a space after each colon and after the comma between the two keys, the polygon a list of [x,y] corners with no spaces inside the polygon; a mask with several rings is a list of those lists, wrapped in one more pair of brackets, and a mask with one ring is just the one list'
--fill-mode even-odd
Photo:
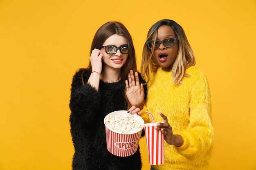
{"label": "raised open palm held up between the two women", "polygon": [[128,81],[126,80],[126,96],[132,106],[142,109],[145,94],[142,83],[139,84],[138,73],[135,72],[134,77],[133,71],[131,70],[128,74]]}

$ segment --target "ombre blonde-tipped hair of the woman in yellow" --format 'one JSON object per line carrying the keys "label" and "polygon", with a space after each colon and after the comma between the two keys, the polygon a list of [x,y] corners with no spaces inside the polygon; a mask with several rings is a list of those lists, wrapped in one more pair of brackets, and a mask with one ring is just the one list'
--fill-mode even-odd
{"label": "ombre blonde-tipped hair of the woman in yellow", "polygon": [[[175,36],[179,40],[179,47],[177,57],[175,62],[171,66],[173,83],[175,85],[182,84],[181,80],[183,77],[188,77],[185,73],[186,68],[195,65],[195,56],[189,41],[186,38],[186,34],[179,24],[173,20],[160,20],[153,24],[148,31],[147,40],[156,40],[157,39],[157,31],[160,26],[168,25],[171,26],[173,31],[175,32]],[[154,43],[155,44],[155,43]],[[158,64],[155,62],[153,57],[154,49],[149,49],[147,44],[144,44],[143,52],[142,52],[142,60],[141,60],[141,73],[143,79],[148,83],[150,72],[155,73],[157,68],[159,68]]]}

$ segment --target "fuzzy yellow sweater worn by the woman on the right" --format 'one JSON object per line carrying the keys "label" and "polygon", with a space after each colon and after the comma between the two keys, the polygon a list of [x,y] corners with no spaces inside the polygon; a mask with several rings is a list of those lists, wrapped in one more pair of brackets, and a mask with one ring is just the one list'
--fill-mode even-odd
{"label": "fuzzy yellow sweater worn by the woman on the right", "polygon": [[181,135],[184,141],[180,147],[165,142],[165,163],[153,166],[157,170],[208,169],[213,149],[209,85],[198,68],[191,66],[186,73],[190,77],[184,77],[183,84],[174,85],[171,72],[158,68],[148,82],[143,110],[152,113],[155,122],[162,122],[159,112],[166,115],[173,134]]}

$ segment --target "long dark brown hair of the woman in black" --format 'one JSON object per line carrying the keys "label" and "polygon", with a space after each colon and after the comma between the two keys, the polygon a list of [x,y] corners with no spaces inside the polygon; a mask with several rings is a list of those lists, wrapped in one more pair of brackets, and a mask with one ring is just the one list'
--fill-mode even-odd
{"label": "long dark brown hair of the woman in black", "polygon": [[[132,42],[132,37],[130,35],[130,33],[128,32],[128,30],[126,29],[126,27],[124,26],[124,24],[122,24],[121,22],[107,22],[105,24],[103,24],[98,31],[95,33],[94,38],[92,40],[92,46],[91,46],[91,52],[93,49],[101,49],[101,46],[103,45],[103,43],[111,36],[111,35],[120,35],[124,38],[126,38],[127,44],[128,44],[128,49],[129,49],[129,55],[128,58],[126,60],[126,63],[124,64],[124,66],[122,66],[121,68],[121,79],[123,80],[124,84],[125,84],[125,80],[128,79],[128,73],[130,72],[130,70],[133,70],[134,72],[137,71],[137,64],[136,64],[136,56],[135,56],[135,49],[133,46],[133,42]],[[104,68],[104,64],[102,61],[102,71],[101,73],[103,73],[103,68]],[[82,72],[82,83],[84,85],[84,81],[83,81],[83,73],[85,70],[90,70],[92,71],[92,65],[91,62],[89,62],[89,65],[87,68],[82,68],[83,72]],[[126,90],[125,90],[126,93]],[[128,103],[128,107],[131,107],[130,103],[127,100],[126,94],[124,94],[124,97],[126,98],[126,102]]]}

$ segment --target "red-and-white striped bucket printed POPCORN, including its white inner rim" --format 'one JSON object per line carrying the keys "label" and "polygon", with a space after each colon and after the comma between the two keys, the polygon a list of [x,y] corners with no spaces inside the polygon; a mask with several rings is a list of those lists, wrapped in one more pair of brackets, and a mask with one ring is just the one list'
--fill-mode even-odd
{"label": "red-and-white striped bucket printed POPCORN, including its white inner rim", "polygon": [[[143,126],[141,129],[137,130],[136,132],[122,134],[120,132],[110,130],[110,128],[106,126],[106,119],[108,116],[116,117],[118,115],[127,115],[127,114],[128,114],[127,110],[119,110],[119,111],[109,113],[104,118],[108,151],[113,155],[116,155],[119,157],[128,157],[130,155],[133,155],[137,151]],[[139,122],[141,122],[142,125],[144,124],[144,120],[140,116],[134,115],[134,117],[136,117],[136,119]]]}

